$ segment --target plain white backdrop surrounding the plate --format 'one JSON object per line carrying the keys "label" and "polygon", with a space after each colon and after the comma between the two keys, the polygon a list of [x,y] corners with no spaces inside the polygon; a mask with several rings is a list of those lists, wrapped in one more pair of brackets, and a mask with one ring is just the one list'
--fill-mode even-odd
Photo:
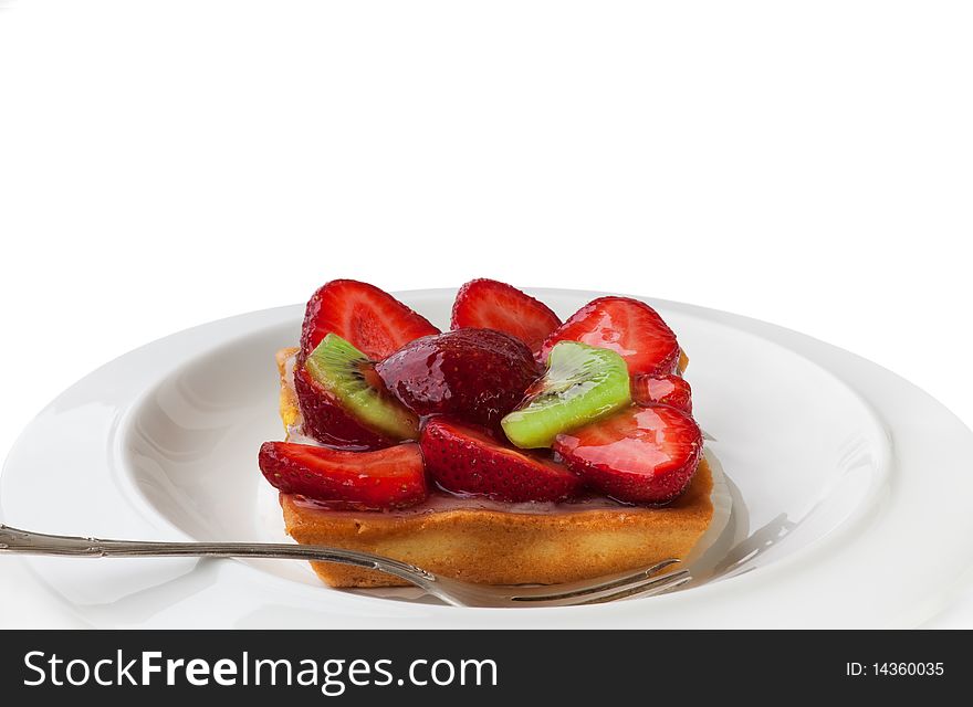
{"label": "plain white backdrop surrounding the plate", "polygon": [[[971,36],[963,2],[0,0],[0,450],[338,276],[726,309],[970,424]],[[0,626],[70,623],[0,563]]]}

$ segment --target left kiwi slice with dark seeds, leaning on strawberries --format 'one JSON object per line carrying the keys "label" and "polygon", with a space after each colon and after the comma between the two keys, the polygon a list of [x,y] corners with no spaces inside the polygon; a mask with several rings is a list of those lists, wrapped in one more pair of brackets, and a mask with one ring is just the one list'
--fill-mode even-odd
{"label": "left kiwi slice with dark seeds, leaning on strawberries", "polygon": [[368,357],[337,334],[325,336],[304,366],[362,424],[395,440],[418,439],[418,418],[385,392]]}

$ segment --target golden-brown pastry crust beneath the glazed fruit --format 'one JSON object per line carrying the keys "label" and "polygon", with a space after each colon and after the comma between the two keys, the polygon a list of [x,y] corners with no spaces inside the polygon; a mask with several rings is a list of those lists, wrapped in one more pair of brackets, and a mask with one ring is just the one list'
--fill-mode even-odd
{"label": "golden-brown pastry crust beneath the glazed fruit", "polygon": [[[289,381],[294,349],[278,352],[281,418],[300,423]],[[398,513],[338,511],[281,494],[287,534],[302,545],[364,550],[430,572],[486,584],[550,584],[684,558],[713,516],[713,487],[703,460],[686,493],[661,508],[538,505],[540,511],[495,507],[423,508]],[[312,562],[332,587],[399,587],[401,580],[356,567]]]}

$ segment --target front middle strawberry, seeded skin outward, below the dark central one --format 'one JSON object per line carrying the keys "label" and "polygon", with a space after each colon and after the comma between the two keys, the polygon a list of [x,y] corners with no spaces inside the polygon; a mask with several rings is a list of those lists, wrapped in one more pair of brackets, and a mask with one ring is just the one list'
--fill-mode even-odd
{"label": "front middle strawberry, seeded skin outward, below the dark central one", "polygon": [[563,500],[582,481],[562,465],[503,446],[483,431],[446,418],[426,424],[419,440],[426,469],[453,493],[509,503]]}

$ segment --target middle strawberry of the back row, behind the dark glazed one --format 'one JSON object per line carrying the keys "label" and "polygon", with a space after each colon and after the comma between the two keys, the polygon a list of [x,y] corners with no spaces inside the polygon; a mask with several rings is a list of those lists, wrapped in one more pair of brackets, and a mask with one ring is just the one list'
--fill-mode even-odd
{"label": "middle strawberry of the back row, behind the dark glazed one", "polygon": [[496,329],[515,336],[532,351],[561,326],[543,302],[495,279],[472,279],[460,287],[452,305],[453,329]]}

